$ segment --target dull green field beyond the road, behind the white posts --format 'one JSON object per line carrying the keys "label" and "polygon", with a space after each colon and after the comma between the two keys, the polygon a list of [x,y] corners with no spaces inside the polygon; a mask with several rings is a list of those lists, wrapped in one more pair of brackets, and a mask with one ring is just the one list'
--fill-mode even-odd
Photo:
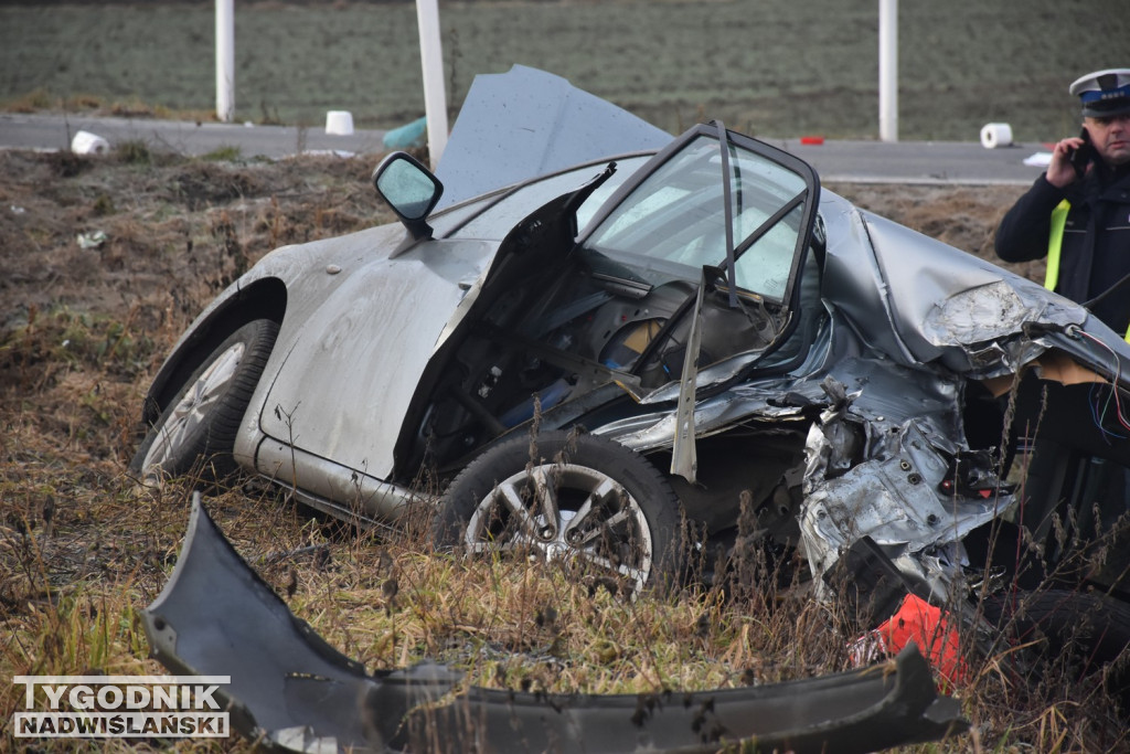
{"label": "dull green field beyond the road, behind the white posts", "polygon": [[[453,112],[476,73],[541,68],[672,133],[704,119],[771,137],[878,133],[875,0],[442,2]],[[1121,64],[1122,0],[904,0],[899,131],[1018,141],[1078,130],[1068,84]],[[169,115],[215,107],[214,3],[0,7],[0,106]],[[391,128],[424,114],[411,2],[237,2],[236,116],[316,125],[350,110]],[[1124,61],[1123,61],[1124,62]]]}

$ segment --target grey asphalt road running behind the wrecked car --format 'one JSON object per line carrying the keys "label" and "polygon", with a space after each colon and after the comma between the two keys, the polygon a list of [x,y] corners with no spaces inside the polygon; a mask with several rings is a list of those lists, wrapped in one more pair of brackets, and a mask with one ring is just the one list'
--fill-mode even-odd
{"label": "grey asphalt road running behind the wrecked car", "polygon": [[[192,123],[150,119],[80,115],[0,114],[0,148],[66,149],[79,130],[96,133],[111,146],[144,140],[151,147],[203,155],[238,147],[245,157],[280,158],[303,150],[351,154],[384,151],[384,131],[358,130],[330,136],[323,127]],[[858,183],[1027,184],[1043,168],[1025,165],[1027,157],[1048,148],[1040,144],[985,149],[979,142],[955,141],[824,141],[770,140],[811,164],[822,180]]]}

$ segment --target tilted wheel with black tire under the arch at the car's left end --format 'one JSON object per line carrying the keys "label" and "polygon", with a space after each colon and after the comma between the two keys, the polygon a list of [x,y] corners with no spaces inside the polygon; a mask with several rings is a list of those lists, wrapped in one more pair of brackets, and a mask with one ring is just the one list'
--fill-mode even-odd
{"label": "tilted wheel with black tire under the arch at the car's left end", "polygon": [[210,480],[234,471],[235,436],[278,331],[272,320],[252,320],[219,344],[149,428],[130,470],[147,484],[198,467]]}

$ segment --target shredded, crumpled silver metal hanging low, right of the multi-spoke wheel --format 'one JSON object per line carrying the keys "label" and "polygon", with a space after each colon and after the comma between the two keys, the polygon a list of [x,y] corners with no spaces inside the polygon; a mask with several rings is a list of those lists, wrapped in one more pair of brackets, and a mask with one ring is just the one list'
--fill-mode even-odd
{"label": "shredded, crumpled silver metal hanging low, right of the multi-spoke wheel", "polygon": [[[864,536],[892,553],[916,555],[959,543],[1012,504],[1003,489],[988,497],[939,492],[950,461],[968,450],[959,416],[960,378],[853,359],[840,365],[832,380],[824,384],[829,399],[838,401],[809,430],[799,517],[818,580]],[[855,390],[849,393],[851,388]],[[901,567],[911,562],[903,558]],[[903,570],[927,574],[939,597],[946,597],[938,569],[919,563]]]}

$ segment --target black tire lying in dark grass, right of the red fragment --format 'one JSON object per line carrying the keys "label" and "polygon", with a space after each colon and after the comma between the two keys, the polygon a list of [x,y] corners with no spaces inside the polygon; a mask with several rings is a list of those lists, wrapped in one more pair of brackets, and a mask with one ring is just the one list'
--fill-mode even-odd
{"label": "black tire lying in dark grass, right of the red fragment", "polygon": [[[992,595],[981,605],[985,619],[1016,645],[1036,650],[1036,673],[1059,662],[1078,676],[1099,673],[1130,647],[1130,605],[1106,595],[1048,589]],[[1130,692],[1127,665],[1122,660],[1106,674],[1107,692],[1123,703]]]}

